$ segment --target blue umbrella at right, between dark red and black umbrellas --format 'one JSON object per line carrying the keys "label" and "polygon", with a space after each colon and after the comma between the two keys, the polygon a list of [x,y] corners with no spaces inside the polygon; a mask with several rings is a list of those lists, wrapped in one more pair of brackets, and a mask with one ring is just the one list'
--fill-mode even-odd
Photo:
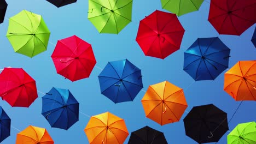
{"label": "blue umbrella at right, between dark red and black umbrellas", "polygon": [[184,52],[184,69],[195,81],[214,80],[229,67],[230,49],[216,38],[198,38]]}

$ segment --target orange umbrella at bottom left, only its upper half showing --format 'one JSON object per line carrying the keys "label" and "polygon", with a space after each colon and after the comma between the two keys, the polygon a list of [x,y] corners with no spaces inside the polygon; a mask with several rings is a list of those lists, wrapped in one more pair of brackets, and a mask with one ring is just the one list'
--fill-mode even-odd
{"label": "orange umbrella at bottom left, only its upper half showing", "polygon": [[30,144],[53,144],[54,141],[48,134],[46,129],[28,126],[26,129],[17,134],[16,144],[30,143]]}

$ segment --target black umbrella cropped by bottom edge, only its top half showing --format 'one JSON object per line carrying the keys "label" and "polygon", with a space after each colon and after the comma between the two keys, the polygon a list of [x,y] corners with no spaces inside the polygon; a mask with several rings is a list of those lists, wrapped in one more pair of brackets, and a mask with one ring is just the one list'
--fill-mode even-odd
{"label": "black umbrella cropped by bottom edge, only its top half showing", "polygon": [[133,131],[128,144],[167,144],[164,133],[148,126]]}

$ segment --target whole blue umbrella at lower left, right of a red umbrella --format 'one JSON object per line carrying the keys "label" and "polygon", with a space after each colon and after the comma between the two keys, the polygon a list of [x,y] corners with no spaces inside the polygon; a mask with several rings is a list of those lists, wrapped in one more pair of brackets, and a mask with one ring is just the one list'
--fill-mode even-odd
{"label": "whole blue umbrella at lower left, right of a red umbrella", "polygon": [[79,103],[68,89],[53,87],[42,99],[42,115],[51,127],[67,130],[78,121]]}

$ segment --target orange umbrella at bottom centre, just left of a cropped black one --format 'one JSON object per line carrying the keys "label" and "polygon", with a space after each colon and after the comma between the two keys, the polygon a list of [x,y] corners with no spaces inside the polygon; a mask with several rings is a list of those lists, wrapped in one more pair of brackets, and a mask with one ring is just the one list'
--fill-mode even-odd
{"label": "orange umbrella at bottom centre, just left of a cropped black one", "polygon": [[124,143],[129,132],[124,119],[105,112],[92,116],[86,125],[85,134],[90,143]]}

